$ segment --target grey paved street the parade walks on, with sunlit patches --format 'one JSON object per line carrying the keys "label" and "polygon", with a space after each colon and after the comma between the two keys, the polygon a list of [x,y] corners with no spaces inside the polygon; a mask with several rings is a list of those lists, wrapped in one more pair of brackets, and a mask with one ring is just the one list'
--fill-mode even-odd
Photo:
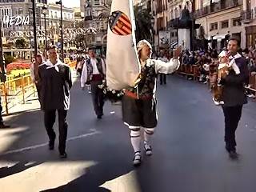
{"label": "grey paved street the parade walks on, with sunlit patches", "polygon": [[[106,103],[98,121],[90,94],[75,82],[66,160],[47,148],[42,112],[14,114],[0,130],[0,191],[254,192],[256,103],[246,105],[238,127],[238,161],[224,149],[224,118],[205,85],[177,75],[158,86],[159,124],[153,153],[132,165],[129,130],[120,106]],[[115,114],[110,113],[115,111]],[[55,126],[55,130],[58,126]]]}

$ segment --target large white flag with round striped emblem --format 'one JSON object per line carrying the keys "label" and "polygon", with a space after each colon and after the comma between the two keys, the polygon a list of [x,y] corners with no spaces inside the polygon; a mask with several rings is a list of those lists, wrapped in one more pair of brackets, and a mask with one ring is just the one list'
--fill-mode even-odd
{"label": "large white flag with round striped emblem", "polygon": [[133,86],[139,73],[132,0],[113,0],[107,33],[106,84],[113,90]]}

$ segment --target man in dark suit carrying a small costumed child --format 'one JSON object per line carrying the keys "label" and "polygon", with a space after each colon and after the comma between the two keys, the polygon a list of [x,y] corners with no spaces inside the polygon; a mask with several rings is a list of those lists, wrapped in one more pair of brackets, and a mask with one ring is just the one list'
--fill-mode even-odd
{"label": "man in dark suit carrying a small costumed child", "polygon": [[224,105],[222,109],[225,116],[225,142],[230,158],[238,158],[235,131],[238,128],[238,122],[242,115],[242,106],[247,103],[244,85],[249,72],[246,66],[246,59],[238,54],[238,39],[231,38],[227,49],[231,55],[230,59],[234,59],[239,67],[240,74],[235,74],[234,70],[230,70],[226,78],[222,78],[221,80],[223,85]]}

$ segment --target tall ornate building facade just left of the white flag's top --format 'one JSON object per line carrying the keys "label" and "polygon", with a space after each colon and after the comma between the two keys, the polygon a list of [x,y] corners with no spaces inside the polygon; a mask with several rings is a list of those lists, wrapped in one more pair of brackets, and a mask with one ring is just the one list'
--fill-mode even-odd
{"label": "tall ornate building facade just left of the white flag's top", "polygon": [[81,0],[81,12],[85,27],[94,27],[96,34],[86,35],[86,47],[93,46],[97,54],[106,54],[108,17],[100,17],[102,12],[110,13],[110,0]]}

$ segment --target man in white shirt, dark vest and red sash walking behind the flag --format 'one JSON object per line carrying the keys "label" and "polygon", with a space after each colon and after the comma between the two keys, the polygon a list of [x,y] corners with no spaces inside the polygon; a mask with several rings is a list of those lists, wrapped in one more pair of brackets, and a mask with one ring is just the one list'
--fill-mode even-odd
{"label": "man in white shirt, dark vest and red sash walking behind the flag", "polygon": [[104,94],[98,86],[102,85],[105,79],[106,67],[102,58],[96,57],[93,48],[89,50],[90,58],[86,60],[82,68],[81,87],[85,89],[86,84],[90,84],[90,91],[97,118],[102,118],[104,106]]}

